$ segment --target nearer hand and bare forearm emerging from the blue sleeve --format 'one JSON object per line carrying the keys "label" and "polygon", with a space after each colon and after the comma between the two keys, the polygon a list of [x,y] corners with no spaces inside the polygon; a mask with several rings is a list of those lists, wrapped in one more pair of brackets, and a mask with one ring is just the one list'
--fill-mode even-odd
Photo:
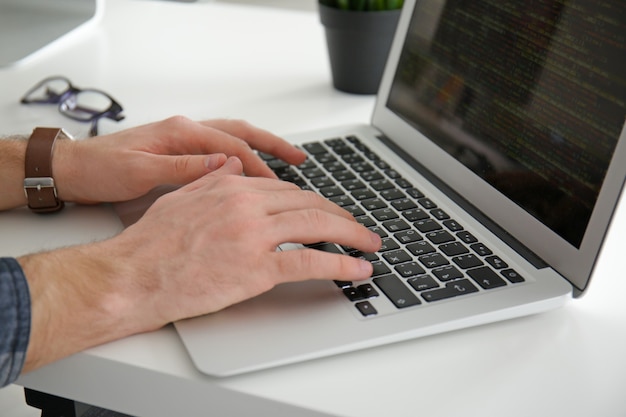
{"label": "nearer hand and bare forearm emerging from the blue sleeve", "polygon": [[285,242],[364,252],[380,237],[293,184],[242,176],[236,157],[159,198],[120,235],[19,259],[32,294],[26,370],[90,346],[215,312],[287,281],[359,280],[368,261]]}

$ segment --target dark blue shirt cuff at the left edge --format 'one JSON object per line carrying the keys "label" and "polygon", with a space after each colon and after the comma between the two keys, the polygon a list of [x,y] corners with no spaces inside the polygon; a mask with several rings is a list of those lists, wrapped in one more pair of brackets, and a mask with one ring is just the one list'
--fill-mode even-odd
{"label": "dark blue shirt cuff at the left edge", "polygon": [[0,387],[20,375],[30,337],[30,293],[20,264],[0,258]]}

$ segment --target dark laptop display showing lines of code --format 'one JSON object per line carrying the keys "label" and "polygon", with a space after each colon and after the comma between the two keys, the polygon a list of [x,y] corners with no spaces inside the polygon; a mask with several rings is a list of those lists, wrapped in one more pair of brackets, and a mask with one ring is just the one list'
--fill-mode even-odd
{"label": "dark laptop display showing lines of code", "polygon": [[623,0],[418,0],[387,106],[578,248],[624,126],[624,22]]}

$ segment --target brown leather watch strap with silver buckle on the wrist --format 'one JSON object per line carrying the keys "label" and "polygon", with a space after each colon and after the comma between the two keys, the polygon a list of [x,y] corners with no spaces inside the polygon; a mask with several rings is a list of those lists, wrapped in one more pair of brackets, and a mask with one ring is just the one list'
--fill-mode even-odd
{"label": "brown leather watch strap with silver buckle on the wrist", "polygon": [[57,139],[71,139],[61,128],[36,127],[28,139],[24,160],[24,192],[35,213],[53,213],[63,208],[52,177],[52,153]]}

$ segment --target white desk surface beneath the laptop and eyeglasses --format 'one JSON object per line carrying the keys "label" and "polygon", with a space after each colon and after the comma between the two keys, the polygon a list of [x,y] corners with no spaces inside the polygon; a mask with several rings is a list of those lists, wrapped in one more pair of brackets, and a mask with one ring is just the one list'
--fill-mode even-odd
{"label": "white desk surface beneath the laptop and eyeglasses", "polygon": [[[244,118],[278,133],[367,122],[372,97],[330,87],[322,28],[314,0],[306,2],[308,11],[108,0],[98,25],[0,70],[1,131],[46,123],[86,132],[53,106],[18,104],[53,74],[124,105],[126,120],[101,122],[104,132],[172,114]],[[87,222],[91,216],[99,221]],[[0,253],[119,230],[108,207],[70,209],[54,224],[33,219],[0,215]],[[31,240],[33,221],[50,239]],[[55,231],[63,236],[53,239]],[[622,204],[590,291],[542,315],[227,379],[196,371],[167,327],[77,354],[19,384],[150,417],[625,416],[626,274],[618,265],[625,235]]]}

